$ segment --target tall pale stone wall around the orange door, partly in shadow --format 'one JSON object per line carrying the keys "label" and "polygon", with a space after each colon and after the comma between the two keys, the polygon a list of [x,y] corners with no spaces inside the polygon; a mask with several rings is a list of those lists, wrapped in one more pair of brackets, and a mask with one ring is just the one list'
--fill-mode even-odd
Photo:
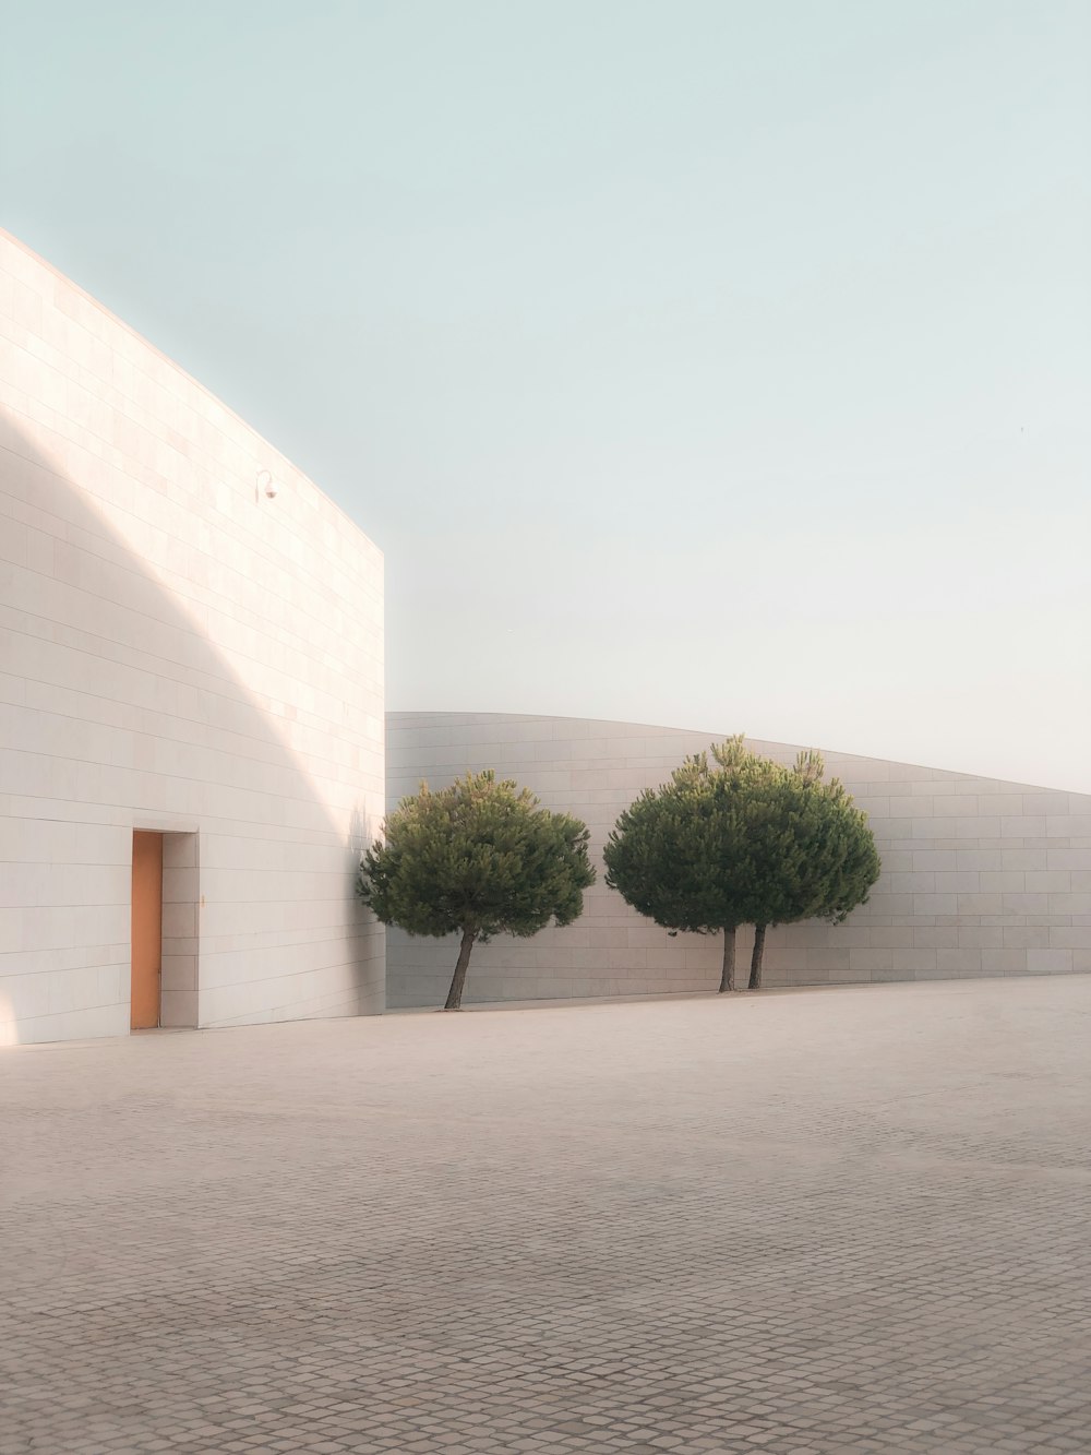
{"label": "tall pale stone wall around the orange door, partly in shadow", "polygon": [[0,1039],[128,1030],[134,828],[164,1024],[380,1011],[381,554],[6,234],[0,515]]}

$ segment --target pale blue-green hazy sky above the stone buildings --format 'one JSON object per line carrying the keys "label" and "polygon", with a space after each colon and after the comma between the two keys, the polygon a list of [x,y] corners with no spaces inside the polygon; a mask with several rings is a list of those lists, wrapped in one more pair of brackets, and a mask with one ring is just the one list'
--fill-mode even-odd
{"label": "pale blue-green hazy sky above the stone buildings", "polygon": [[390,709],[1091,792],[1087,0],[0,20],[0,223],[383,547]]}

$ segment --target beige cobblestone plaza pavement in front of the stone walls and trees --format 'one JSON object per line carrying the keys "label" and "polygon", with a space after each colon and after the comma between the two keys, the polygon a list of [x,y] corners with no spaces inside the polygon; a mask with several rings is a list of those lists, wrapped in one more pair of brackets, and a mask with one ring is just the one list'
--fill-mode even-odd
{"label": "beige cobblestone plaza pavement in front of the stone walls and trees", "polygon": [[1091,1449],[1091,979],[0,1055],[0,1455]]}

